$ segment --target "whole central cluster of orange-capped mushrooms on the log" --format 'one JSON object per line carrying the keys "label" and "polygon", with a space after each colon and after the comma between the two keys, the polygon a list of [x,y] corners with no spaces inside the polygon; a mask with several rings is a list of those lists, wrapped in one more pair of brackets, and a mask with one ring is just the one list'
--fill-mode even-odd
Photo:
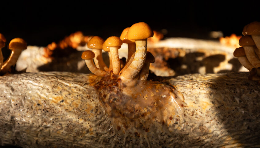
{"label": "whole central cluster of orange-capped mushrooms on the log", "polygon": [[[140,79],[147,80],[150,63],[154,63],[154,56],[147,52],[147,38],[153,37],[154,33],[150,26],[139,22],[123,30],[120,38],[109,37],[104,41],[94,36],[87,43],[87,50],[82,53],[89,70],[98,75],[105,76],[113,73],[119,75],[122,80]],[[128,44],[127,61],[123,62],[118,57],[118,49],[122,43]],[[102,59],[102,49],[109,54],[110,65],[107,67]],[[93,62],[94,59],[94,62]]]}

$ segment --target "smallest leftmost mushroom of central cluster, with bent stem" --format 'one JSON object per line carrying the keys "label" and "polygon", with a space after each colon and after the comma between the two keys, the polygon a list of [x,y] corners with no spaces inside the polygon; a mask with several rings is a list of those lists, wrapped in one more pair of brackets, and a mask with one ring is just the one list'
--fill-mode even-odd
{"label": "smallest leftmost mushroom of central cluster, with bent stem", "polygon": [[97,68],[93,62],[93,58],[95,57],[95,54],[93,51],[87,50],[84,51],[81,55],[81,58],[83,60],[85,60],[86,65],[88,66],[89,70],[93,73],[96,74],[98,76],[105,76],[106,75],[106,71],[105,70],[101,70],[99,68]]}

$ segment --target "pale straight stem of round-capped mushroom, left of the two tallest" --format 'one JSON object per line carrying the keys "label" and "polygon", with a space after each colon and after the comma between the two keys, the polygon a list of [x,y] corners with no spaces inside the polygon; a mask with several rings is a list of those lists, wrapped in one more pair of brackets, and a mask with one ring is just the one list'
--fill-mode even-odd
{"label": "pale straight stem of round-capped mushroom, left of the two tallest", "polygon": [[113,73],[119,74],[120,61],[119,61],[119,57],[118,57],[118,46],[110,47],[110,54],[111,54],[112,63],[113,63]]}

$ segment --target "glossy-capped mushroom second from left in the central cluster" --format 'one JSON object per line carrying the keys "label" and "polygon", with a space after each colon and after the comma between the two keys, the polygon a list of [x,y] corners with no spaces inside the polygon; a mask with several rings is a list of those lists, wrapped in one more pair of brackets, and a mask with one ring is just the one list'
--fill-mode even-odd
{"label": "glossy-capped mushroom second from left in the central cluster", "polygon": [[103,46],[104,40],[101,37],[94,36],[92,37],[89,42],[87,43],[87,47],[92,49],[92,51],[95,54],[94,62],[98,68],[101,70],[108,71],[108,68],[103,61],[102,58],[102,46]]}

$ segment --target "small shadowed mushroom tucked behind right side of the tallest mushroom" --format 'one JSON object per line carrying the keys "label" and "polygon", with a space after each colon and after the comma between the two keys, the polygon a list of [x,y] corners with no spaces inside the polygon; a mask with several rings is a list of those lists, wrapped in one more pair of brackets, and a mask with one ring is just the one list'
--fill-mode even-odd
{"label": "small shadowed mushroom tucked behind right side of the tallest mushroom", "polygon": [[154,62],[155,62],[155,58],[154,58],[153,54],[151,54],[149,51],[147,51],[144,66],[142,67],[142,70],[139,73],[139,80],[143,80],[143,81],[147,80],[148,74],[149,74],[150,63],[154,63]]}

